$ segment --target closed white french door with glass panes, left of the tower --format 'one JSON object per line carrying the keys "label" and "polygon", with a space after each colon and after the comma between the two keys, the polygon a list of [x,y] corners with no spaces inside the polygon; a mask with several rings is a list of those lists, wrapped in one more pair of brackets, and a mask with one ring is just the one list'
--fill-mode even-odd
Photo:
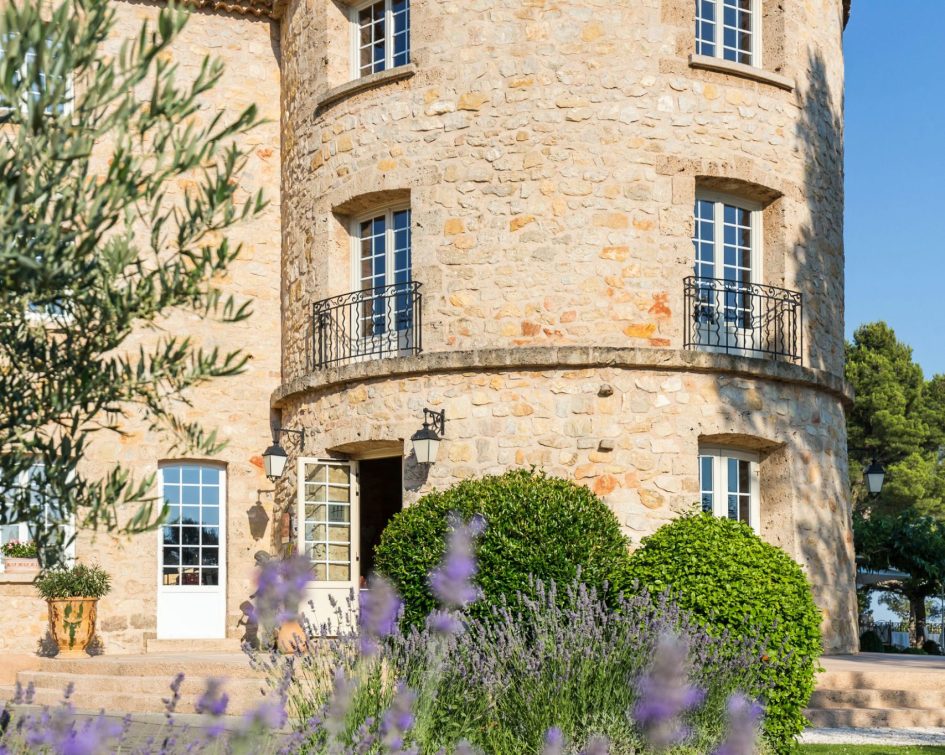
{"label": "closed white french door with glass panes, left of the tower", "polygon": [[162,465],[168,507],[158,532],[158,639],[226,637],[226,471]]}

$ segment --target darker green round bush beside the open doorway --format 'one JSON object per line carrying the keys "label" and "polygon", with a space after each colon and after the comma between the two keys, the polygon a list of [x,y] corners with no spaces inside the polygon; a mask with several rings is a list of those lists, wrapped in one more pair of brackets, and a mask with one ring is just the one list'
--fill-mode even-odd
{"label": "darker green round bush beside the open doorway", "polygon": [[377,571],[403,598],[408,624],[421,624],[436,607],[429,574],[443,558],[451,512],[486,520],[477,541],[483,600],[470,607],[473,614],[528,593],[532,576],[568,585],[580,569],[585,584],[600,588],[629,557],[617,518],[585,487],[527,470],[467,480],[423,496],[381,535]]}

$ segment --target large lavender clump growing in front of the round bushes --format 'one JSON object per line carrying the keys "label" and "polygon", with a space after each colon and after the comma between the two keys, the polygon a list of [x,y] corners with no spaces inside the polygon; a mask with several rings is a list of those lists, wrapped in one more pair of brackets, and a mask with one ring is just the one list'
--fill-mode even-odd
{"label": "large lavender clump growing in front of the round bushes", "polygon": [[[389,584],[375,582],[360,637],[343,629],[352,596],[332,620],[310,627],[310,650],[262,660],[272,673],[280,664],[294,670],[289,698],[300,746],[741,755],[749,743],[759,751],[757,719],[730,700],[763,692],[767,638],[712,637],[665,595],[614,597],[580,577],[563,591],[532,580],[515,601],[470,615],[481,528],[453,522],[430,575],[441,608],[422,628],[400,632],[402,606]],[[333,685],[325,683],[329,667]]]}

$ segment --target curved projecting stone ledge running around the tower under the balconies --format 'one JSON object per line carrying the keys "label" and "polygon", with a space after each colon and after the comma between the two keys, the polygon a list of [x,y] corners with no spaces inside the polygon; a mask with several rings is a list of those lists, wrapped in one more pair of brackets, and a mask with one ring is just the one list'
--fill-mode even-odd
{"label": "curved projecting stone ledge running around the tower under the balconies", "polygon": [[825,370],[770,359],[755,359],[681,349],[640,349],[598,346],[535,346],[471,351],[430,351],[418,356],[374,359],[309,372],[284,383],[271,404],[282,408],[307,393],[336,391],[350,384],[395,380],[449,372],[501,372],[616,367],[656,372],[694,372],[791,383],[835,396],[845,404],[853,390]]}

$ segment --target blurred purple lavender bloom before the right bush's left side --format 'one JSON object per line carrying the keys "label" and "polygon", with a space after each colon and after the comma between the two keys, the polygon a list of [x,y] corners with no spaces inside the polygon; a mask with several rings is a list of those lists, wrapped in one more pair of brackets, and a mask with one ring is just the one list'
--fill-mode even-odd
{"label": "blurred purple lavender bloom before the right bush's left side", "polygon": [[682,716],[705,697],[689,685],[689,649],[678,636],[664,634],[656,644],[653,664],[637,684],[639,699],[633,717],[654,749],[665,749],[686,739]]}

